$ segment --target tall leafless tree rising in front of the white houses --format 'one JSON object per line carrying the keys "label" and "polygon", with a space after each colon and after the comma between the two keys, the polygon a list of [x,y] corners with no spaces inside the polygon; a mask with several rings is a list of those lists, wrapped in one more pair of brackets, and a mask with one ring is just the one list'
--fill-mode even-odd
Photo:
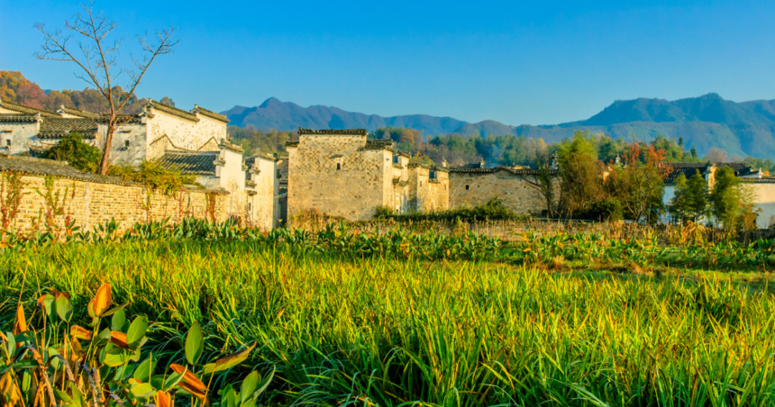
{"label": "tall leafless tree rising in front of the white houses", "polygon": [[[59,29],[49,31],[44,24],[35,24],[35,28],[45,38],[41,46],[42,51],[35,56],[38,59],[75,62],[83,71],[76,77],[95,86],[105,97],[108,104],[107,132],[98,168],[99,174],[105,175],[110,162],[114,131],[124,120],[121,115],[123,106],[134,95],[135,89],[140,85],[142,77],[148,72],[150,64],[156,57],[169,54],[172,52],[172,47],[178,44],[178,41],[172,41],[172,34],[178,28],[170,26],[156,32],[155,41],[148,41],[147,34],[143,37],[138,35],[142,57],[137,59],[131,56],[133,67],[123,68],[119,67],[116,60],[122,39],[107,38],[116,28],[116,22],[109,20],[102,12],[95,12],[94,2],[81,4],[81,6],[84,9],[83,14],[76,14],[71,21],[66,21],[65,32]],[[74,37],[75,40],[73,40]],[[119,80],[123,81],[123,89],[127,89],[126,93],[117,86]]]}

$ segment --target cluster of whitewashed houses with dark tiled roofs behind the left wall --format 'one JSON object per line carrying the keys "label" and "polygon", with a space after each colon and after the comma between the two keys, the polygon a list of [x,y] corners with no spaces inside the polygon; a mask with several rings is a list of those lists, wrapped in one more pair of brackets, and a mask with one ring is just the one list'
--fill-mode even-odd
{"label": "cluster of whitewashed houses with dark tiled roofs behind the left wall", "polygon": [[[270,229],[276,225],[278,194],[275,159],[243,158],[242,148],[227,137],[229,120],[198,105],[190,112],[150,101],[140,113],[124,114],[111,143],[113,164],[138,165],[158,160],[162,166],[196,176],[196,183],[228,193],[224,211]],[[61,106],[56,113],[0,101],[0,148],[6,155],[40,156],[69,133],[103,148],[104,114]]]}

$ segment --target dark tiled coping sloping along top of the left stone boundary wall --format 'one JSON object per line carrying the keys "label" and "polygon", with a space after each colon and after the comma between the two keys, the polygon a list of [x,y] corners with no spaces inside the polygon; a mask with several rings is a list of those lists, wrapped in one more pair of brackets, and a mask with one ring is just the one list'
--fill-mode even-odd
{"label": "dark tiled coping sloping along top of the left stone boundary wall", "polygon": [[99,176],[68,166],[53,159],[0,155],[0,171],[18,172],[32,176],[58,176],[101,184],[140,185],[124,181],[118,176]]}

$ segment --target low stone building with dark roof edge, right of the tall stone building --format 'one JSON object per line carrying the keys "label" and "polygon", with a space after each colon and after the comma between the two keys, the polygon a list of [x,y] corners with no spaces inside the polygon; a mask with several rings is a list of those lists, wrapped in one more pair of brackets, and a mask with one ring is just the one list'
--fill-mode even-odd
{"label": "low stone building with dark roof edge, right of the tall stone building", "polygon": [[[503,199],[515,213],[544,215],[546,200],[528,181],[537,182],[538,171],[525,167],[485,167],[485,163],[451,167],[450,207],[476,206],[493,198]],[[557,170],[552,170],[557,176]],[[554,183],[560,196],[560,180]]]}

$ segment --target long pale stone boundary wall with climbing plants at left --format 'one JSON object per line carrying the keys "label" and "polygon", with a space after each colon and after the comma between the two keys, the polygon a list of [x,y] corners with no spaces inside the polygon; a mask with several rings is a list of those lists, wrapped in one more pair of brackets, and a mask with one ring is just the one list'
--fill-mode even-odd
{"label": "long pale stone boundary wall with climbing plants at left", "polygon": [[[19,199],[13,199],[14,191],[21,193]],[[144,185],[0,172],[0,222],[20,235],[51,231],[61,237],[69,222],[92,231],[111,219],[120,222],[119,231],[138,222],[180,222],[185,217],[223,222],[227,197],[215,190],[166,195]]]}

